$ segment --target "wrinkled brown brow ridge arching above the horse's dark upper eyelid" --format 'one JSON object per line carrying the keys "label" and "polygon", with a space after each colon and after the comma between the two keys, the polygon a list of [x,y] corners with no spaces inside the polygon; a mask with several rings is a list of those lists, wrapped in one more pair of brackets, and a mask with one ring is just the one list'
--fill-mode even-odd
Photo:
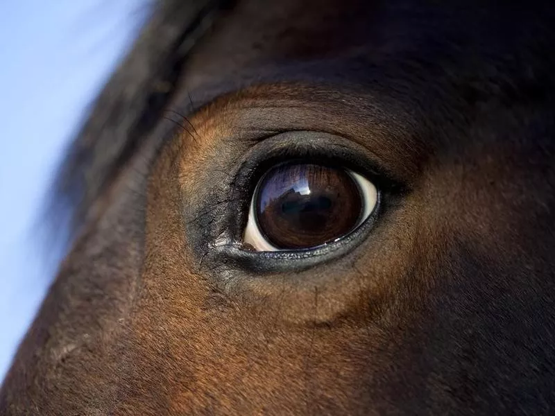
{"label": "wrinkled brown brow ridge arching above the horse's dark upper eyelid", "polygon": [[[357,85],[291,83],[259,84],[239,91],[216,88],[213,94],[199,92],[205,99],[191,119],[197,128],[197,122],[223,125],[223,130],[227,126],[232,135],[238,132],[233,139],[257,141],[259,137],[303,130],[345,137],[374,153],[395,177],[411,183],[425,162],[420,157],[425,143],[412,134],[417,121],[391,98],[364,91]],[[384,102],[387,105],[380,107]]]}

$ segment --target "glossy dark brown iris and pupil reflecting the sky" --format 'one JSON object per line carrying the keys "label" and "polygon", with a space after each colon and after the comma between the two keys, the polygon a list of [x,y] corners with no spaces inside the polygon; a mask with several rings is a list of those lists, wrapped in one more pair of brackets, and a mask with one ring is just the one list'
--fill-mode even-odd
{"label": "glossy dark brown iris and pupil reflecting the sky", "polygon": [[316,164],[277,166],[262,179],[257,222],[276,248],[310,248],[338,239],[357,225],[363,200],[347,172]]}

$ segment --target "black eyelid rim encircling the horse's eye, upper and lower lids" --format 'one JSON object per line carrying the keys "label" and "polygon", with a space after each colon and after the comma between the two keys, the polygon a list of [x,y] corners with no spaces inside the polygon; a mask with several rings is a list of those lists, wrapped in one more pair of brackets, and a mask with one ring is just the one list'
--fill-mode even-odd
{"label": "black eyelid rim encircling the horse's eye, upper and lower lids", "polygon": [[[377,188],[376,206],[359,227],[334,243],[307,250],[249,252],[243,248],[242,233],[253,192],[269,168],[291,159],[338,166],[364,175]],[[368,149],[341,136],[309,130],[282,132],[260,139],[242,157],[232,177],[229,214],[225,219],[228,236],[224,240],[228,243],[213,245],[212,251],[216,257],[225,257],[228,264],[257,272],[304,270],[350,252],[364,241],[382,214],[383,197],[398,198],[409,191],[407,185],[393,178]]]}

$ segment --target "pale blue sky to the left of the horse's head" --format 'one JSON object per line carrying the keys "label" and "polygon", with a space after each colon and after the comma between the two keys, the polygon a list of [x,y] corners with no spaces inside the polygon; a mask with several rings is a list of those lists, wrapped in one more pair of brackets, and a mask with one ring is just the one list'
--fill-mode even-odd
{"label": "pale blue sky to the left of the horse's head", "polygon": [[40,235],[53,172],[148,10],[146,0],[0,1],[0,380],[60,260]]}

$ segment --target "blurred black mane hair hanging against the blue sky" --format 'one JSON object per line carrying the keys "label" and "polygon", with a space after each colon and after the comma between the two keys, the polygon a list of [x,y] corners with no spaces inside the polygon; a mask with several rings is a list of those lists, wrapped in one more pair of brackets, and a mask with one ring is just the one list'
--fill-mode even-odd
{"label": "blurred black mane hair hanging against the blue sky", "polygon": [[133,48],[94,101],[55,177],[48,214],[56,222],[67,221],[70,238],[160,121],[191,49],[230,3],[157,0]]}

